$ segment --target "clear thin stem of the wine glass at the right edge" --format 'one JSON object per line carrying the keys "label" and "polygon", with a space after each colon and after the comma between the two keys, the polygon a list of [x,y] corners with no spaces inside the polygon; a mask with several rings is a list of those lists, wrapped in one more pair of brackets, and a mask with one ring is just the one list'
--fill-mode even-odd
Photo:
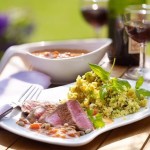
{"label": "clear thin stem of the wine glass at the right edge", "polygon": [[145,43],[142,43],[140,47],[140,68],[145,68],[145,46]]}

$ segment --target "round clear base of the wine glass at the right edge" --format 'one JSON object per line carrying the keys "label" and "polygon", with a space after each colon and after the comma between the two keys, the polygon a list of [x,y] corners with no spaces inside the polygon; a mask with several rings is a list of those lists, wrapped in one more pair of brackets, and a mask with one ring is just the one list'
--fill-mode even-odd
{"label": "round clear base of the wine glass at the right edge", "polygon": [[140,76],[143,76],[144,80],[150,80],[150,69],[132,67],[125,73],[125,76],[133,80],[137,80]]}

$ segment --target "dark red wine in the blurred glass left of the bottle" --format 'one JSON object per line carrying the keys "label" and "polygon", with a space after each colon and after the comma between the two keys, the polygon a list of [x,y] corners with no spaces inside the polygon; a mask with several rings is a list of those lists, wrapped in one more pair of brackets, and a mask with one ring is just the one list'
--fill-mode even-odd
{"label": "dark red wine in the blurred glass left of the bottle", "polygon": [[81,12],[85,20],[95,27],[107,24],[108,10],[106,8],[99,7],[94,10],[91,7],[85,7],[81,9]]}

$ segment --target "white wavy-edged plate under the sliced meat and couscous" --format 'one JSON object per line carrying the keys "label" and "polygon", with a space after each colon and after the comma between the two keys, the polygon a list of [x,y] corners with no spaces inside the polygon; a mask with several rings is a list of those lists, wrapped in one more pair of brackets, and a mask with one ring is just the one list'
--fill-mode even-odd
{"label": "white wavy-edged plate under the sliced meat and couscous", "polygon": [[[131,83],[132,86],[134,86],[134,84],[135,84],[134,81],[129,80],[129,82]],[[51,102],[58,102],[59,99],[66,98],[69,87],[72,86],[73,84],[74,83],[68,84],[65,86],[59,86],[56,88],[50,88],[50,89],[43,90],[43,92],[41,93],[41,95],[39,96],[38,99],[39,100],[49,100]],[[144,83],[143,88],[150,90],[150,85],[148,85],[147,83]],[[37,140],[37,141],[41,141],[41,142],[45,142],[45,143],[49,143],[49,144],[73,147],[73,146],[85,145],[85,144],[89,143],[90,141],[92,141],[98,135],[102,134],[103,132],[106,132],[108,130],[111,130],[111,129],[114,129],[117,127],[121,127],[121,126],[124,126],[127,124],[131,124],[133,122],[136,122],[138,120],[141,120],[143,118],[150,116],[150,99],[148,100],[147,107],[140,109],[139,112],[131,114],[131,115],[127,115],[125,117],[114,119],[113,123],[106,125],[103,128],[96,129],[89,134],[83,135],[79,138],[73,138],[73,139],[57,138],[57,140],[56,140],[56,138],[54,138],[54,137],[42,135],[37,132],[30,131],[29,129],[26,129],[24,127],[21,127],[16,124],[16,121],[20,118],[20,115],[21,115],[21,111],[16,113],[14,116],[9,115],[11,117],[7,116],[7,117],[3,118],[0,121],[0,126],[10,132],[13,132],[15,134],[18,134],[20,136],[23,136],[23,137],[26,137],[29,139],[33,139],[33,140]]]}

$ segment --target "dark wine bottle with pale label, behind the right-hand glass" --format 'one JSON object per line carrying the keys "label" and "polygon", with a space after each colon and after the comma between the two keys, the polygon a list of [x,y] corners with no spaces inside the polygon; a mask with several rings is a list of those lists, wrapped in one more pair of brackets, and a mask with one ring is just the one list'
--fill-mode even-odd
{"label": "dark wine bottle with pale label, behind the right-hand glass", "polygon": [[109,0],[108,1],[108,37],[113,40],[108,50],[110,62],[116,59],[117,65],[138,66],[139,65],[139,43],[133,41],[127,35],[123,14],[129,5],[146,4],[147,0]]}

